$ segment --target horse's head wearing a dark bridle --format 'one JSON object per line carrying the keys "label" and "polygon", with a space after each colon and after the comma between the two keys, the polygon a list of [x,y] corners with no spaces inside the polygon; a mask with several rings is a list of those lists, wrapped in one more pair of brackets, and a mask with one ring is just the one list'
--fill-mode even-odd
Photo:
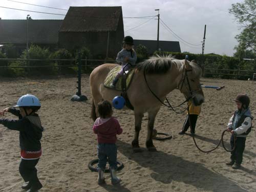
{"label": "horse's head wearing a dark bridle", "polygon": [[200,105],[204,102],[204,93],[200,84],[201,68],[192,60],[191,62],[185,59],[183,73],[178,84],[178,89],[185,97],[193,98],[195,105]]}

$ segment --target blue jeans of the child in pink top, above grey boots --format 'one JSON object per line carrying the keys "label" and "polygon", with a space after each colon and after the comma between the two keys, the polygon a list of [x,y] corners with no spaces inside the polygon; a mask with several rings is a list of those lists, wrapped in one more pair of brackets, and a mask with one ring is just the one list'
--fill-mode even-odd
{"label": "blue jeans of the child in pink top, above grey boots", "polygon": [[117,146],[115,143],[98,143],[99,163],[97,168],[104,170],[108,160],[110,167],[117,169]]}

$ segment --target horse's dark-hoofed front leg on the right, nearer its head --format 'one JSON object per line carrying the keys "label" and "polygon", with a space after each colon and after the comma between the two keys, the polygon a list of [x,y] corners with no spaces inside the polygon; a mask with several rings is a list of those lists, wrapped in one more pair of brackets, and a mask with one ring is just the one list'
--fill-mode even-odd
{"label": "horse's dark-hoofed front leg on the right, nearer its head", "polygon": [[158,111],[159,111],[159,109],[156,111],[148,112],[146,147],[147,147],[148,151],[150,151],[150,152],[157,151],[156,147],[153,144],[152,133],[153,133],[153,129],[154,129],[155,118],[156,118]]}

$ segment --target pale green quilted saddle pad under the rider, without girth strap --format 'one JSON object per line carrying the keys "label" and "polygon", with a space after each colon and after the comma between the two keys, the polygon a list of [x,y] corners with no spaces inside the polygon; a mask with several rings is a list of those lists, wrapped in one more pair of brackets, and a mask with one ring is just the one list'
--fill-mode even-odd
{"label": "pale green quilted saddle pad under the rider, without girth strap", "polygon": [[[104,86],[106,88],[110,88],[110,89],[115,89],[115,90],[118,90],[118,91],[122,91],[122,77],[120,77],[116,83],[116,88],[112,88],[110,86],[110,84],[113,82],[114,78],[116,77],[117,73],[121,70],[121,66],[117,66],[115,68],[113,68],[108,76],[106,76],[105,78],[105,81],[104,81]],[[134,74],[134,69],[131,69],[128,74],[127,74],[127,77],[126,77],[126,90],[129,88],[129,85],[130,85],[130,82],[133,78],[133,74]]]}

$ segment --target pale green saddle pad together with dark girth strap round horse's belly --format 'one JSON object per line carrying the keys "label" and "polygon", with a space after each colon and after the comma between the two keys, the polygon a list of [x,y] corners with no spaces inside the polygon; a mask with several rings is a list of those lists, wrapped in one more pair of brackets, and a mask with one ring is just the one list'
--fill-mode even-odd
{"label": "pale green saddle pad together with dark girth strap round horse's belly", "polygon": [[127,73],[125,72],[125,74],[123,74],[117,81],[116,83],[116,87],[112,88],[111,87],[111,83],[113,82],[114,78],[116,77],[117,73],[121,70],[121,66],[117,66],[115,68],[113,68],[108,76],[106,76],[105,80],[104,80],[104,87],[109,88],[109,89],[114,89],[114,90],[118,90],[118,91],[122,91],[121,96],[125,99],[125,105],[127,106],[127,108],[134,110],[133,105],[131,104],[126,91],[129,89],[129,86],[131,84],[132,78],[133,78],[133,74],[134,74],[134,69],[131,69],[130,71],[128,71]]}

